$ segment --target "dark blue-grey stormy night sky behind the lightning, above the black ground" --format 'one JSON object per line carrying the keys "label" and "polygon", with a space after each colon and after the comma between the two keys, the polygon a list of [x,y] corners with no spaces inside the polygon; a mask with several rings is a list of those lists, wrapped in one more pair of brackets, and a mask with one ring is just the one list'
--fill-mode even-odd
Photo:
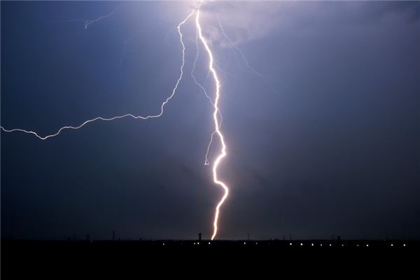
{"label": "dark blue-grey stormy night sky behind the lightning, above the black ground", "polygon": [[[157,113],[179,76],[174,27],[190,10],[1,1],[1,125],[45,135]],[[220,169],[230,197],[218,238],[420,238],[419,2],[209,3],[202,27],[228,72],[219,71]],[[190,77],[193,20],[183,31],[186,75],[162,118],[91,123],[45,141],[1,133],[3,237],[211,235],[222,195],[203,165],[212,107]],[[211,151],[214,160],[218,145]]]}

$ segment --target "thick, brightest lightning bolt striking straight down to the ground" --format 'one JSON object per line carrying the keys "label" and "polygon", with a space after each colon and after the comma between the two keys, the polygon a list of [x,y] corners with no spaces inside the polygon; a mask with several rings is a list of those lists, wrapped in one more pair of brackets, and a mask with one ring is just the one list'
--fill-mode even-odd
{"label": "thick, brightest lightning bolt striking straight down to the ground", "polygon": [[218,113],[220,112],[220,109],[218,108],[218,102],[219,102],[219,99],[221,97],[221,82],[218,79],[216,69],[214,69],[213,52],[211,52],[209,44],[207,43],[206,38],[204,38],[204,36],[202,34],[202,27],[200,25],[200,8],[202,6],[202,3],[203,2],[200,3],[200,6],[198,7],[197,13],[195,15],[195,26],[197,27],[197,31],[198,31],[197,33],[198,33],[198,36],[200,38],[200,41],[202,42],[202,45],[204,45],[204,48],[207,51],[207,55],[209,55],[209,71],[213,75],[214,83],[215,83],[215,87],[216,87],[215,99],[214,99],[214,112],[213,112],[214,134],[218,135],[218,137],[221,141],[221,146],[222,146],[221,151],[218,154],[218,156],[216,157],[216,160],[214,161],[214,165],[213,165],[213,181],[218,186],[221,186],[224,190],[223,197],[221,198],[221,200],[216,205],[216,211],[215,211],[215,214],[214,214],[214,222],[213,222],[214,230],[213,230],[213,235],[211,235],[211,240],[213,240],[216,237],[217,232],[218,232],[218,218],[219,218],[219,214],[220,214],[220,209],[221,209],[221,206],[223,205],[223,203],[225,202],[225,200],[228,198],[229,188],[228,188],[228,186],[226,186],[225,183],[223,183],[223,181],[220,181],[218,179],[218,166],[220,165],[223,158],[225,158],[225,156],[227,155],[225,139],[224,139],[223,134],[221,132],[221,123],[220,123],[219,115],[218,115]]}

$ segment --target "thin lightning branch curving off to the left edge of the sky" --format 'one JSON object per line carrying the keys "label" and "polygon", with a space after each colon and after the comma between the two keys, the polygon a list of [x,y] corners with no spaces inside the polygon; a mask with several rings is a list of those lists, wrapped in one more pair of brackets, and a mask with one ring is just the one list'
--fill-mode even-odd
{"label": "thin lightning branch curving off to the left edge of the sky", "polygon": [[[114,13],[115,13],[115,11],[114,11]],[[38,139],[45,140],[45,139],[48,139],[48,138],[56,137],[63,130],[78,130],[78,129],[84,127],[85,125],[87,125],[88,123],[93,123],[93,122],[95,122],[97,120],[111,121],[111,120],[118,120],[120,118],[134,118],[136,120],[137,119],[140,119],[140,120],[148,120],[149,118],[159,118],[160,116],[162,116],[166,104],[172,99],[172,97],[174,97],[175,92],[178,89],[179,83],[181,83],[181,80],[183,78],[183,67],[184,67],[184,64],[185,64],[185,51],[186,51],[186,46],[184,45],[184,42],[183,42],[183,34],[181,32],[181,27],[182,27],[182,25],[184,25],[187,22],[187,20],[193,15],[193,13],[194,13],[194,11],[191,12],[187,16],[187,18],[185,18],[182,22],[180,22],[179,25],[178,25],[178,27],[177,27],[178,33],[179,33],[179,41],[181,42],[181,45],[182,45],[182,64],[180,66],[181,73],[179,74],[179,78],[176,80],[176,84],[175,84],[174,88],[172,89],[172,93],[169,95],[169,97],[167,97],[167,99],[165,100],[165,102],[163,102],[160,105],[160,112],[158,114],[156,114],[156,115],[148,115],[148,116],[134,116],[133,114],[128,113],[128,114],[125,114],[125,115],[115,116],[115,117],[112,117],[112,118],[103,118],[103,117],[92,118],[90,120],[86,120],[84,123],[82,123],[81,125],[78,125],[78,126],[64,126],[64,127],[61,127],[54,134],[49,134],[49,135],[46,135],[44,137],[42,137],[41,135],[39,135],[37,132],[31,131],[31,130],[22,130],[20,128],[14,128],[12,130],[6,130],[3,126],[0,126],[0,129],[3,130],[3,132],[24,132],[24,133],[27,133],[27,134],[33,134],[35,137],[38,137]],[[108,17],[109,16],[111,16],[111,14],[109,14]],[[102,18],[104,18],[104,17],[102,17]],[[94,20],[94,21],[91,21],[91,23],[92,22],[95,22],[95,21],[98,21],[98,20],[99,19]]]}

